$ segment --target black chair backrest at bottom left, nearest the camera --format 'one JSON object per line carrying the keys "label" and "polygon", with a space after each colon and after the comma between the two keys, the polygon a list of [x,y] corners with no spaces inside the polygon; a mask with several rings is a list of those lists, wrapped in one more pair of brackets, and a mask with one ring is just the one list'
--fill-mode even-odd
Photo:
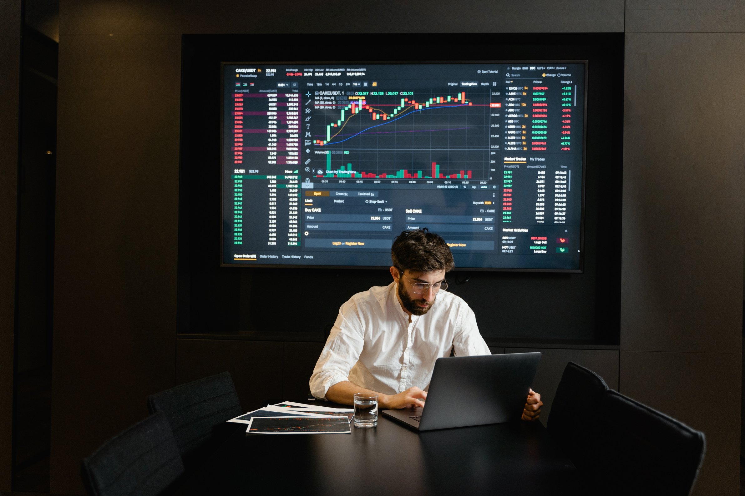
{"label": "black chair backrest at bottom left, nearest the camera", "polygon": [[171,426],[162,413],[138,422],[83,460],[94,496],[159,495],[184,472]]}

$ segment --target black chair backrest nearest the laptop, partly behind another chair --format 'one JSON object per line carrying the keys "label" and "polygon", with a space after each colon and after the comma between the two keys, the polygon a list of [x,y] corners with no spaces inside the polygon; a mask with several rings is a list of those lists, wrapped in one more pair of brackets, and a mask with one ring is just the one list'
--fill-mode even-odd
{"label": "black chair backrest nearest the laptop, partly behind another chair", "polygon": [[595,457],[593,421],[596,414],[602,413],[588,409],[595,410],[593,405],[607,390],[603,378],[592,370],[573,361],[566,365],[551,404],[547,428],[577,468],[583,468],[586,460]]}

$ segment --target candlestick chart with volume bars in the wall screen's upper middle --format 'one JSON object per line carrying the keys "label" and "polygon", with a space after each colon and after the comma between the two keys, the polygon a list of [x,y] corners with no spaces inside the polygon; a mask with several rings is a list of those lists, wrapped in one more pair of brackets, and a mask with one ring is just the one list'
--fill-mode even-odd
{"label": "candlestick chart with volume bars in the wall screen's upper middle", "polygon": [[317,178],[489,178],[488,91],[308,96]]}

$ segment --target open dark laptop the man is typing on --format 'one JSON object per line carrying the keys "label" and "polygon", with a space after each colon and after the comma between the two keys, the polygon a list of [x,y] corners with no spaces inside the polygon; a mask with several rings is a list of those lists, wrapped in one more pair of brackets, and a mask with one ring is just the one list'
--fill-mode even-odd
{"label": "open dark laptop the man is typing on", "polygon": [[437,358],[425,408],[381,413],[419,431],[518,420],[540,360],[539,352]]}

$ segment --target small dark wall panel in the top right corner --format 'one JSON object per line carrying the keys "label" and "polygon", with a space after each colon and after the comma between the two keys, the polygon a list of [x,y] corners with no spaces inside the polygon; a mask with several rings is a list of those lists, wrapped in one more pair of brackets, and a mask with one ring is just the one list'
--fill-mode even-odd
{"label": "small dark wall panel in the top right corner", "polygon": [[741,0],[627,0],[627,33],[745,31]]}

